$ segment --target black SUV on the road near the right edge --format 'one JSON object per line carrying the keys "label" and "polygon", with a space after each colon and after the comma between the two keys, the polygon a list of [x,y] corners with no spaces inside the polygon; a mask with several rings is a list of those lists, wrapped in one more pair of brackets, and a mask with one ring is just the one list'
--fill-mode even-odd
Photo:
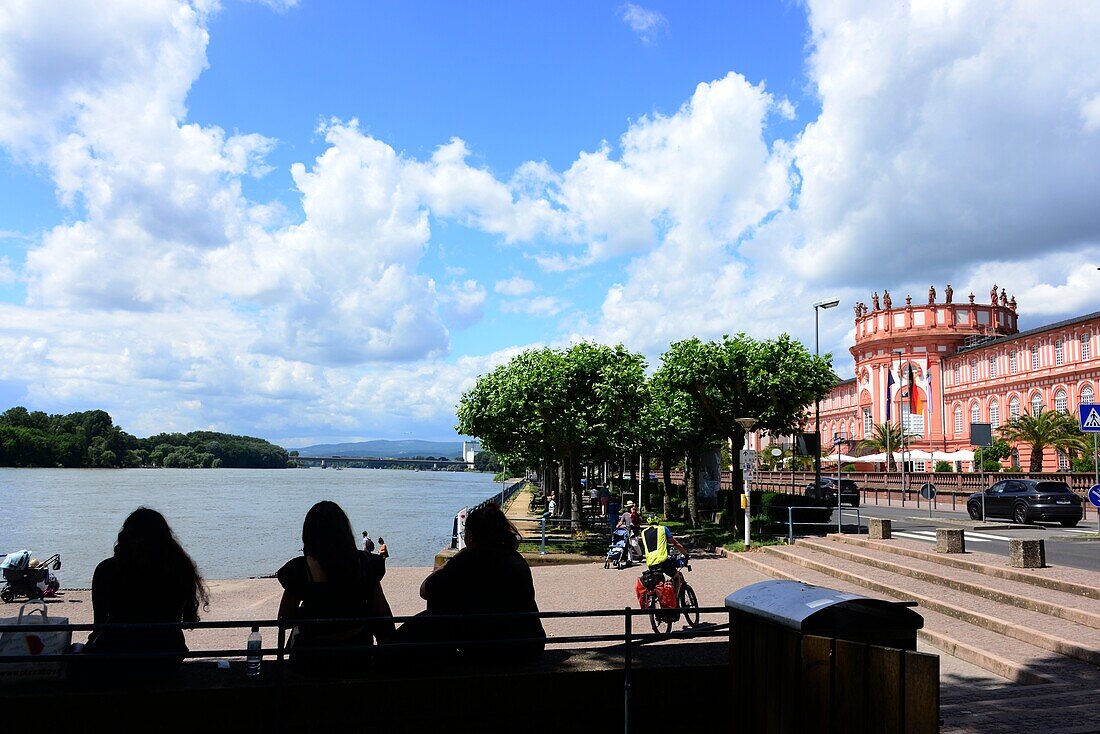
{"label": "black SUV on the road near the right edge", "polygon": [[[974,519],[981,519],[981,492],[966,501]],[[1034,521],[1057,521],[1074,527],[1085,516],[1081,499],[1065,482],[1007,479],[986,490],[986,517],[1008,517],[1022,525]]]}

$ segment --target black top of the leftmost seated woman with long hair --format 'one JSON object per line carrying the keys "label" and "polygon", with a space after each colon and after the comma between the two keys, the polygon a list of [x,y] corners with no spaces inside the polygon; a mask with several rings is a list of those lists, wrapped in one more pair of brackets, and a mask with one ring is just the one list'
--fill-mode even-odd
{"label": "black top of the leftmost seated woman with long hair", "polygon": [[[91,577],[92,622],[183,622],[195,603],[194,591],[167,574],[123,578],[116,559],[100,561]],[[92,653],[186,653],[182,629],[100,629],[91,633]]]}

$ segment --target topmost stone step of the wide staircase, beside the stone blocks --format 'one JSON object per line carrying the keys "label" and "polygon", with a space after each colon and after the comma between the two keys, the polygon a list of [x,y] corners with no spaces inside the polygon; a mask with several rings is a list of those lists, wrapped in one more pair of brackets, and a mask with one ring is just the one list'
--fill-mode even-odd
{"label": "topmost stone step of the wide staircase, beside the stone blocks", "polygon": [[[854,535],[836,534],[828,535],[826,537],[829,540],[835,540],[837,543],[861,546],[864,548],[875,548],[877,550],[884,550],[898,556],[919,558],[933,563],[939,563],[941,566],[949,566],[956,569],[974,571],[976,573],[994,577],[997,579],[1030,583],[1035,587],[1042,587],[1043,589],[1052,589],[1054,591],[1062,591],[1068,594],[1100,600],[1100,583],[1097,583],[1098,574],[1092,571],[1062,567],[1034,571],[1028,569],[1008,568],[1004,566],[1004,558],[1001,556],[992,556],[990,554],[982,552],[967,552],[966,558],[959,558],[957,556],[937,554],[935,551],[927,550],[927,545],[920,544],[917,540],[905,540],[902,538],[893,540],[871,540],[869,538],[861,538]],[[1052,571],[1056,571],[1057,573],[1052,573]]]}

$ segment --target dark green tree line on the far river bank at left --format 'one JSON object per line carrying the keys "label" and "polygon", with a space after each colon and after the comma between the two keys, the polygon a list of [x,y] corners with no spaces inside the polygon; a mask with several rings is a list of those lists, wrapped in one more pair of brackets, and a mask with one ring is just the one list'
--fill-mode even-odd
{"label": "dark green tree line on the far river bank at left", "polygon": [[284,469],[287,462],[286,449],[250,436],[196,430],[138,438],[106,410],[0,413],[0,467]]}

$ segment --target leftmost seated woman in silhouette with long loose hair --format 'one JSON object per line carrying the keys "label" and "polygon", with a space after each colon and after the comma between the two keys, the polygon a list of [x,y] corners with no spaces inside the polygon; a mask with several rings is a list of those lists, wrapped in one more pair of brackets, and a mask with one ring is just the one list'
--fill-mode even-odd
{"label": "leftmost seated woman in silhouette with long loose hair", "polygon": [[[133,511],[119,532],[114,555],[99,563],[91,578],[92,622],[197,622],[209,595],[195,561],[180,547],[164,516],[155,510]],[[170,657],[117,658],[91,665],[81,660],[76,672],[168,675],[187,651],[182,629],[97,629],[84,648],[88,654],[170,653]]]}

